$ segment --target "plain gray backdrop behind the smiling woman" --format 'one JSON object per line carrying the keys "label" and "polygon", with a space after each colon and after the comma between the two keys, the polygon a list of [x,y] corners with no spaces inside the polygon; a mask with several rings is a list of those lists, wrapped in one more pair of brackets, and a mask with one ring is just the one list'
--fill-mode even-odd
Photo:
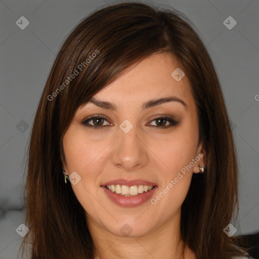
{"label": "plain gray backdrop behind the smiling woman", "polygon": [[[98,1],[0,1],[1,60],[1,175],[0,258],[16,258],[24,223],[22,192],[25,152],[37,103],[56,55],[71,30],[91,11],[105,7]],[[153,1],[183,12],[196,26],[222,84],[233,126],[240,169],[237,234],[259,230],[259,2],[258,0]],[[24,16],[29,25],[20,29]],[[232,16],[237,24],[224,25]],[[230,22],[230,25],[233,23]],[[204,100],[206,101],[206,100]],[[227,188],[227,187],[226,187]]]}

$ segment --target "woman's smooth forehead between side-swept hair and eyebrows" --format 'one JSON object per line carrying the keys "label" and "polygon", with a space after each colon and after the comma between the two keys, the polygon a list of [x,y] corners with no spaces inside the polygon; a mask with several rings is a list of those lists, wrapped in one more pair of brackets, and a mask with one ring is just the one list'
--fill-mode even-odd
{"label": "woman's smooth forehead between side-swept hair and eyebrows", "polygon": [[[184,75],[177,81],[171,75],[179,69],[183,70],[181,63],[171,54],[154,54],[128,68],[93,97],[128,109],[128,105],[133,108],[141,107],[147,100],[175,96],[183,100],[188,107],[192,107],[194,100],[189,79]],[[94,104],[86,105],[90,107]]]}

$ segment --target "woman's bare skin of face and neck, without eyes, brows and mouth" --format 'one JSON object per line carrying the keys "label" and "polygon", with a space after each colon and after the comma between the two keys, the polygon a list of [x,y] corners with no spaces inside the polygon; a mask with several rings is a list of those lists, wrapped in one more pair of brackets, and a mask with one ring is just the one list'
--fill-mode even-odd
{"label": "woman's bare skin of face and neck, without eyes, brows and mouth", "polygon": [[[192,174],[205,166],[202,143],[198,145],[197,108],[187,76],[176,81],[171,73],[180,67],[169,54],[154,54],[126,70],[123,75],[94,97],[111,102],[117,111],[93,103],[80,106],[64,135],[66,175],[76,171],[81,180],[72,185],[85,209],[93,238],[95,256],[108,258],[183,258],[180,239],[181,205],[187,195]],[[183,100],[142,110],[144,102],[175,96]],[[80,122],[92,115],[104,115],[101,130]],[[179,122],[167,128],[154,118],[169,115]],[[166,116],[168,117],[168,116]],[[127,119],[133,125],[124,133],[119,125]],[[95,120],[89,121],[95,125]],[[165,124],[166,123],[166,124]],[[165,121],[162,126],[171,123]],[[98,125],[98,123],[96,123]],[[156,204],[149,201],[136,207],[113,203],[100,187],[115,179],[144,179],[157,183],[156,197],[174,180],[184,166],[202,153],[204,156],[183,175]],[[120,228],[129,225],[132,232],[123,236]],[[185,258],[195,258],[187,248]]]}

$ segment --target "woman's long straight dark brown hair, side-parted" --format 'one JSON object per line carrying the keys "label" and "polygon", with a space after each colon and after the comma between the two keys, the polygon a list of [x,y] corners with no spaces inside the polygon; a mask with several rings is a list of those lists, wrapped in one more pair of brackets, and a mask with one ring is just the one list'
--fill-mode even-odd
{"label": "woman's long straight dark brown hair, side-parted", "polygon": [[68,36],[32,127],[24,193],[30,231],[22,254],[30,244],[31,259],[93,259],[84,209],[64,183],[63,136],[80,105],[126,68],[159,52],[174,54],[191,82],[199,142],[206,151],[205,174],[193,174],[182,204],[181,238],[197,259],[243,254],[223,231],[238,211],[238,165],[229,117],[217,72],[191,24],[174,9],[122,3],[95,11]]}

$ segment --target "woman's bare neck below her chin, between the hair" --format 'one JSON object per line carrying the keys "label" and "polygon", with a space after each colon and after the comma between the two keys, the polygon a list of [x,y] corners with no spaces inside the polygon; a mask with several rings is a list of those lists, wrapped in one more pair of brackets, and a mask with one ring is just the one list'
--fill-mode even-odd
{"label": "woman's bare neck below her chin, between the hair", "polygon": [[[181,211],[179,216],[181,215]],[[150,229],[142,236],[119,237],[98,225],[90,215],[87,222],[98,259],[195,259],[190,248],[183,253],[183,242],[180,238],[180,217]],[[148,226],[147,226],[148,227]]]}

